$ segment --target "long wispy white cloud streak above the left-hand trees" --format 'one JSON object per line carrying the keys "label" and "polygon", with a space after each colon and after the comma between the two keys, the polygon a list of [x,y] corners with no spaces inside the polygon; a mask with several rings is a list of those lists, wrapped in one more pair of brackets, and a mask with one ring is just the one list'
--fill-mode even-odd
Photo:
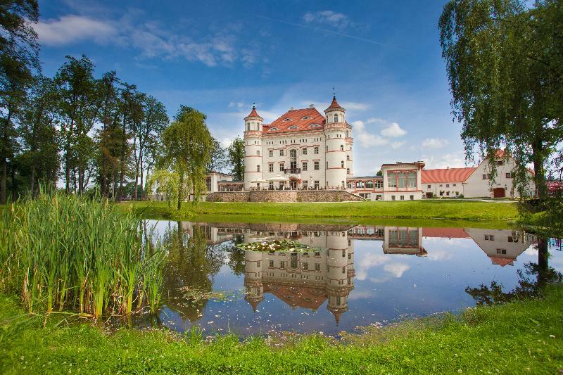
{"label": "long wispy white cloud streak above the left-hand trees", "polygon": [[189,35],[170,32],[156,22],[139,23],[134,13],[120,20],[97,20],[85,15],[63,15],[42,20],[34,29],[39,42],[47,46],[63,46],[85,40],[96,44],[128,46],[144,58],[184,58],[210,67],[232,65],[239,61],[248,68],[258,61],[257,51],[241,48],[236,25],[226,25],[199,40]]}

